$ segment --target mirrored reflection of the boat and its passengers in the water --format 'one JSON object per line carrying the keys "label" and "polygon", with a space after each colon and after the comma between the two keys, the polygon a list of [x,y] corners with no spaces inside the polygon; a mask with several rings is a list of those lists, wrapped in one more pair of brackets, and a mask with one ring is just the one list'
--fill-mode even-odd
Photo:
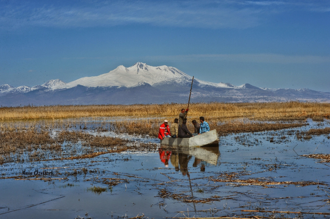
{"label": "mirrored reflection of the boat and its passengers in the water", "polygon": [[176,171],[182,175],[188,173],[188,163],[194,157],[193,167],[200,166],[201,172],[205,171],[205,165],[217,165],[220,157],[218,147],[185,147],[185,146],[164,146],[159,148],[160,160],[168,167],[169,162]]}

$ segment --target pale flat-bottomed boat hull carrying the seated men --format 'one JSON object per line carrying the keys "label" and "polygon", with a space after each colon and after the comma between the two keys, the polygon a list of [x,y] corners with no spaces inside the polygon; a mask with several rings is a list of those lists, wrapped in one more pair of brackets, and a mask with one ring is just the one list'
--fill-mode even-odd
{"label": "pale flat-bottomed boat hull carrying the seated men", "polygon": [[201,147],[201,146],[219,146],[219,136],[216,130],[204,132],[203,134],[196,135],[191,138],[164,138],[160,140],[160,145],[168,146],[188,146],[188,147]]}

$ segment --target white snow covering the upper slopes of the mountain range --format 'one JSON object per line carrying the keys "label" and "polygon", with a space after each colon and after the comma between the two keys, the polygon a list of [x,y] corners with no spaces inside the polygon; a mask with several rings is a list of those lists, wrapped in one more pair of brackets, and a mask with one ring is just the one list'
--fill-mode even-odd
{"label": "white snow covering the upper slopes of the mountain range", "polygon": [[[29,92],[31,90],[39,89],[41,87],[46,87],[51,90],[57,89],[67,89],[72,88],[77,85],[82,85],[86,87],[137,87],[143,84],[150,84],[151,86],[157,86],[161,84],[168,83],[178,83],[183,84],[191,81],[192,77],[177,68],[168,66],[148,66],[145,63],[137,62],[131,67],[118,66],[116,69],[109,71],[108,73],[101,74],[92,77],[83,77],[75,81],[65,83],[60,79],[49,80],[43,85],[34,86],[32,88],[27,86],[20,86],[14,88],[10,85],[2,85],[0,87],[0,93],[7,92]],[[216,88],[232,88],[232,89],[242,89],[242,88],[253,88],[257,89],[250,84],[244,84],[241,86],[234,86],[230,83],[213,83],[208,81],[203,81],[199,79],[194,79],[194,81],[199,83],[199,86],[211,86]]]}

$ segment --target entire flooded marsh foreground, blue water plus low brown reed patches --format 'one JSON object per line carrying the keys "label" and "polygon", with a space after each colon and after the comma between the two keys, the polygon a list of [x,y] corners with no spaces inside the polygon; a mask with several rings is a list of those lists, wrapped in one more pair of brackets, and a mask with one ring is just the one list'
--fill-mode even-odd
{"label": "entire flooded marsh foreground, blue water plus low brown reed patches", "polygon": [[2,122],[0,217],[330,218],[329,120],[210,119],[219,147],[187,149],[164,119]]}

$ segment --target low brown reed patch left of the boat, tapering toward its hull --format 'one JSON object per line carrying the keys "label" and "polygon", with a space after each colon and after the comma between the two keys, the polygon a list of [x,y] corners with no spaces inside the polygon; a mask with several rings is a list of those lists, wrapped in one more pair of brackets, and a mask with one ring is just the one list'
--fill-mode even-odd
{"label": "low brown reed patch left of the boat, tapering toward its hull", "polygon": [[131,142],[110,136],[95,136],[82,131],[7,129],[0,131],[0,164],[7,162],[92,158],[126,150],[156,150],[156,144]]}

